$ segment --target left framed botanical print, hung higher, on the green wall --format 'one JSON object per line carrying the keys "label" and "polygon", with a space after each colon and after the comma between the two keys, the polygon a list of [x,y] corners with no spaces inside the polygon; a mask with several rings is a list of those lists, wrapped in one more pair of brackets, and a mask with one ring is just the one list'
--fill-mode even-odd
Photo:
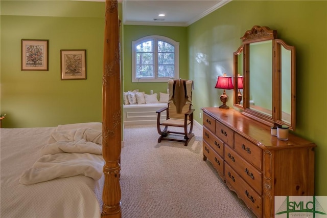
{"label": "left framed botanical print, hung higher, on the green wall", "polygon": [[48,39],[21,39],[21,70],[49,71]]}

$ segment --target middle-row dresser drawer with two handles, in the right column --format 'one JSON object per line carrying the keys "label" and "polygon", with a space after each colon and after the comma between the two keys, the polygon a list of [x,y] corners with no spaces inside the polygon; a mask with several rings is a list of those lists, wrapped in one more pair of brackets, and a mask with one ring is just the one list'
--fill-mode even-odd
{"label": "middle-row dresser drawer with two handles, in the right column", "polygon": [[248,183],[262,194],[262,173],[245,161],[232,148],[225,146],[225,161]]}

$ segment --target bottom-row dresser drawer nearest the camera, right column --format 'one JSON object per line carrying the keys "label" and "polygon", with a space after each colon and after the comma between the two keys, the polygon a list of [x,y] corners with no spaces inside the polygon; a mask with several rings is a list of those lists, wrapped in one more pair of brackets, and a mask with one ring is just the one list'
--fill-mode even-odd
{"label": "bottom-row dresser drawer nearest the camera, right column", "polygon": [[253,211],[253,213],[262,217],[262,198],[256,193],[228,163],[225,163],[225,179],[227,185],[234,190],[238,197]]}

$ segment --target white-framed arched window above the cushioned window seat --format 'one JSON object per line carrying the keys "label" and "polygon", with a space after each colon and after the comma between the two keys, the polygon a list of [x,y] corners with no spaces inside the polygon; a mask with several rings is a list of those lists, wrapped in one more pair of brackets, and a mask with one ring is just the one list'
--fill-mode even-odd
{"label": "white-framed arched window above the cushioned window seat", "polygon": [[179,78],[179,42],[165,36],[132,41],[132,82],[167,82]]}

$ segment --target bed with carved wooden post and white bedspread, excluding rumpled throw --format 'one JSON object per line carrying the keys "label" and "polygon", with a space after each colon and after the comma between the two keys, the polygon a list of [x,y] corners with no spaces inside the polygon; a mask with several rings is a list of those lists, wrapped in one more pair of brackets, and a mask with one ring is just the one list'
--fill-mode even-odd
{"label": "bed with carved wooden post and white bedspread, excluding rumpled throw", "polygon": [[[121,217],[122,90],[119,28],[118,1],[106,1],[102,123],[1,129],[1,217]],[[91,173],[88,176],[56,178],[30,185],[20,183],[23,181],[22,173],[38,162],[42,157],[39,150],[49,143],[54,131],[60,132],[58,128],[94,130],[99,128],[99,124],[102,130],[100,178],[98,174],[94,176]],[[28,175],[25,177],[34,178]]]}

